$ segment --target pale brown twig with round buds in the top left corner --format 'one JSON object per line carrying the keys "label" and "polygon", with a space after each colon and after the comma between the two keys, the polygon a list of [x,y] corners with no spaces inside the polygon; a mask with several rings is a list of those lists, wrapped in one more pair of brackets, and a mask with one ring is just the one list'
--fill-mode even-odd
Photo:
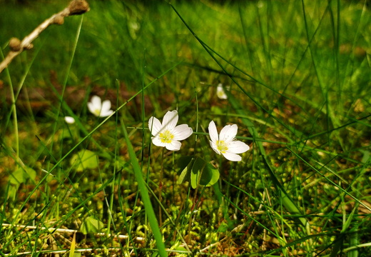
{"label": "pale brown twig with round buds in the top left corner", "polygon": [[32,41],[34,41],[42,31],[44,31],[49,25],[51,24],[58,24],[61,25],[64,22],[64,17],[68,17],[71,15],[78,15],[78,14],[84,14],[86,11],[89,11],[89,5],[86,2],[86,0],[73,0],[71,3],[63,9],[63,11],[60,11],[58,14],[54,14],[49,19],[46,19],[42,24],[37,26],[34,31],[29,34],[29,36],[26,36],[22,41],[16,38],[11,38],[9,41],[9,54],[5,57],[3,61],[1,61],[0,64],[0,73],[3,71],[14,59],[14,57],[21,54],[24,49],[29,50],[34,47],[32,45]]}

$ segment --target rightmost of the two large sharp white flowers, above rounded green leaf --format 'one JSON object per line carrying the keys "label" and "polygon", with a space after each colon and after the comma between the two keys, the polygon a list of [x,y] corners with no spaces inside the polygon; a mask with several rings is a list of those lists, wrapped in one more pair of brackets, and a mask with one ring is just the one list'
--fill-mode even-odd
{"label": "rightmost of the two large sharp white flowers, above rounded green leaf", "polygon": [[214,121],[209,124],[210,146],[215,153],[223,154],[229,161],[241,161],[241,156],[237,153],[245,153],[250,147],[242,141],[237,141],[237,125],[227,125],[221,131],[220,135],[216,129]]}

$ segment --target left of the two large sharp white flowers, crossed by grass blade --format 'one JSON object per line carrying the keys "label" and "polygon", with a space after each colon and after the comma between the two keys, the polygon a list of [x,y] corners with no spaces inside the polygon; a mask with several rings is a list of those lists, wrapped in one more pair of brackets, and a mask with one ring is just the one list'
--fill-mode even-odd
{"label": "left of the two large sharp white flowers, crossed by grass blade", "polygon": [[152,133],[152,143],[155,146],[166,147],[169,151],[181,149],[181,140],[192,135],[193,130],[187,125],[176,126],[178,122],[178,111],[168,111],[163,116],[163,123],[151,117],[148,121],[149,129]]}

